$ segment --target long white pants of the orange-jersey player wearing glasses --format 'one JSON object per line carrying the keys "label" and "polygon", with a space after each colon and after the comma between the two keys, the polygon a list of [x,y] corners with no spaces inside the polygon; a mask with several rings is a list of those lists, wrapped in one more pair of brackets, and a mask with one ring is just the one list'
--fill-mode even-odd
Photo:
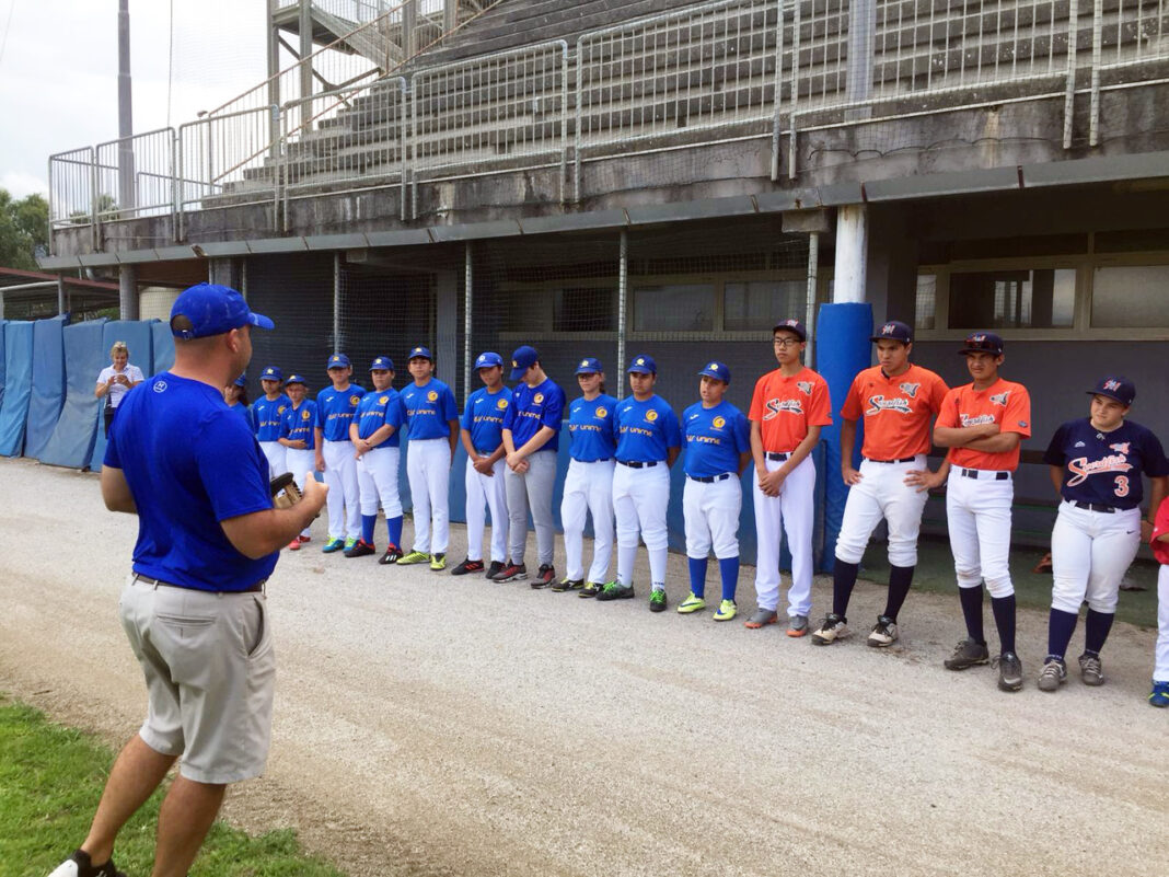
{"label": "long white pants of the orange-jersey player wearing glasses", "polygon": [[[767,471],[774,472],[787,461],[768,460]],[[780,540],[788,537],[791,552],[791,588],[788,591],[788,616],[811,612],[812,505],[816,495],[816,464],[807,456],[783,479],[780,495],[767,496],[753,478],[755,498],[756,564],[755,593],[760,609],[775,612],[780,602]]]}

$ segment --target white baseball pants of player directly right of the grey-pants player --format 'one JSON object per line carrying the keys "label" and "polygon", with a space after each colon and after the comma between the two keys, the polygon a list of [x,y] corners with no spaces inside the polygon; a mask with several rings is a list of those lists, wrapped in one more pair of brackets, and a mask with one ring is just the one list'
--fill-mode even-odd
{"label": "white baseball pants of player directly right of the grey-pants player", "polygon": [[[560,523],[565,527],[565,572],[573,581],[584,578],[584,519],[593,516],[593,565],[588,581],[609,580],[613,558],[613,469],[616,462],[573,460],[565,476]],[[624,469],[625,467],[622,467]]]}

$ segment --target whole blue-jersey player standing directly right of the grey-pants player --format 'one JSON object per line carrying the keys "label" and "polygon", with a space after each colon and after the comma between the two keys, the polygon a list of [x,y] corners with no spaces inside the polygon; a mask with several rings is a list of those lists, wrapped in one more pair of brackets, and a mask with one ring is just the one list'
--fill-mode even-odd
{"label": "whole blue-jersey player standing directly right of the grey-pants player", "polygon": [[[580,591],[596,596],[609,580],[613,557],[613,468],[616,465],[617,433],[614,414],[617,400],[604,392],[601,360],[586,357],[576,366],[580,399],[568,406],[572,436],[560,522],[565,527],[565,578],[553,591]],[[593,565],[584,578],[584,519],[593,516]]]}

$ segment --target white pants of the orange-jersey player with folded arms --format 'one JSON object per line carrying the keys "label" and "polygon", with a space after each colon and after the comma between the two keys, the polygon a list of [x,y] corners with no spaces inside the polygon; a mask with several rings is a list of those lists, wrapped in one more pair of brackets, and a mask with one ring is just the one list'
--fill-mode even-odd
{"label": "white pants of the orange-jersey player with folded arms", "polygon": [[[971,478],[963,471],[976,472]],[[960,588],[983,581],[991,596],[1015,593],[1008,565],[1011,551],[1011,502],[1015,482],[982,469],[950,469],[946,481],[946,524]]]}

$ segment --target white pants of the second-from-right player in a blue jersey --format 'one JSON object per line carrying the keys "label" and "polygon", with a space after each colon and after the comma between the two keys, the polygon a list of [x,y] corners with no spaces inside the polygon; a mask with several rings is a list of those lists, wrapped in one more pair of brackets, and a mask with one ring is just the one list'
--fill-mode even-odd
{"label": "white pants of the second-from-right player in a blue jersey", "polygon": [[670,505],[670,467],[664,462],[649,469],[617,463],[613,472],[613,511],[617,525],[617,576],[631,583],[637,537],[650,557],[650,579],[665,585],[670,533],[665,524]]}

